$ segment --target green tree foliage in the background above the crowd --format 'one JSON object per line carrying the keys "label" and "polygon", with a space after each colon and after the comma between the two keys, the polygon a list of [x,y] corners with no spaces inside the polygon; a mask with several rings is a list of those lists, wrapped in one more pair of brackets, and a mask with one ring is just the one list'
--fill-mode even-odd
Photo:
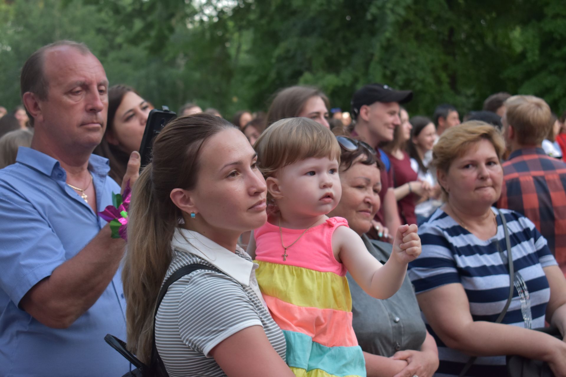
{"label": "green tree foliage in the background above the crowd", "polygon": [[60,38],[87,43],[111,83],[155,105],[187,101],[228,118],[266,110],[277,89],[317,85],[349,109],[366,83],[413,89],[411,115],[461,113],[491,93],[566,109],[560,0],[0,1],[0,104],[19,102],[19,69]]}

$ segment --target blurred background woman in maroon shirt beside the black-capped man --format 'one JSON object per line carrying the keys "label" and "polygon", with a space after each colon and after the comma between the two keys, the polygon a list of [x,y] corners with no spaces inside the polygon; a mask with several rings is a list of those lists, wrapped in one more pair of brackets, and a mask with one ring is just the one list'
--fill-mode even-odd
{"label": "blurred background woman in maroon shirt beside the black-capped man", "polygon": [[401,221],[406,224],[416,224],[415,204],[421,197],[427,197],[430,185],[419,181],[417,173],[411,168],[410,157],[405,151],[406,142],[411,137],[409,114],[401,107],[399,114],[401,125],[395,129],[393,141],[383,147],[387,153],[393,170],[395,198]]}

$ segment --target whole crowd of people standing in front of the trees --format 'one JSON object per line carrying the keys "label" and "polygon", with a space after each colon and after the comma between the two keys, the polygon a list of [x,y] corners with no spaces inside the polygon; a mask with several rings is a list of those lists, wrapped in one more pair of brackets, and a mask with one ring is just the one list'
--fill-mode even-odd
{"label": "whole crowd of people standing in front of the trees", "polygon": [[[505,356],[566,375],[564,109],[499,92],[467,114],[409,114],[419,93],[378,83],[340,109],[294,85],[233,115],[186,103],[140,175],[159,98],[109,85],[71,41],[33,53],[21,85],[23,105],[0,106],[0,375],[132,373],[107,332],[145,363],[157,350],[170,376],[484,377]],[[311,160],[328,165],[286,178]],[[130,187],[126,244],[126,221],[98,214]],[[285,201],[311,189],[328,211]],[[209,271],[159,309],[165,277],[194,263]]]}

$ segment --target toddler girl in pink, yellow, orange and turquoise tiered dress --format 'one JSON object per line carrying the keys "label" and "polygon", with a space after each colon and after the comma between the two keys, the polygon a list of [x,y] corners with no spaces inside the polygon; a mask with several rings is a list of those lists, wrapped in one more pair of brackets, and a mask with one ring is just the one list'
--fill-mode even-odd
{"label": "toddler girl in pink, yellow, orange and turquoise tiered dress", "polygon": [[342,193],[340,145],[329,129],[307,118],[282,119],[255,149],[273,210],[255,229],[248,253],[259,263],[261,293],[285,334],[286,361],[297,376],[365,376],[346,271],[371,296],[391,297],[407,263],[421,253],[417,226],[397,229],[382,266],[344,218],[326,215]]}

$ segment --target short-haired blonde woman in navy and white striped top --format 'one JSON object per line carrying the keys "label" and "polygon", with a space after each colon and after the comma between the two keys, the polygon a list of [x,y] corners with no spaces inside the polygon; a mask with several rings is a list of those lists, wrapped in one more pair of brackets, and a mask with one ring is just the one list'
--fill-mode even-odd
{"label": "short-haired blonde woman in navy and white striped top", "polygon": [[505,355],[513,354],[566,375],[566,343],[530,330],[546,319],[566,335],[564,275],[533,222],[492,207],[504,150],[496,128],[477,121],[448,129],[433,149],[445,204],[419,227],[423,252],[409,276],[443,376],[505,375]]}

